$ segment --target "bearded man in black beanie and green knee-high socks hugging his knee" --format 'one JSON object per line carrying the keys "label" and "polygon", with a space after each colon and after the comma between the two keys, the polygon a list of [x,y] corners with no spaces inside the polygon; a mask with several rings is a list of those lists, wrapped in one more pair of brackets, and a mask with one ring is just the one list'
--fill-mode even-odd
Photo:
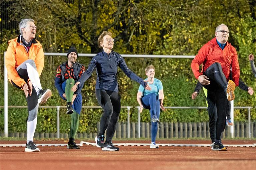
{"label": "bearded man in black beanie and green knee-high socks hugging his knee", "polygon": [[71,116],[71,126],[69,133],[68,149],[80,149],[74,142],[79,124],[79,116],[82,109],[82,94],[83,84],[73,92],[72,86],[80,79],[85,71],[82,64],[76,62],[78,53],[75,47],[70,47],[67,53],[68,61],[62,63],[57,68],[55,77],[55,87],[62,99],[67,101],[67,114]]}

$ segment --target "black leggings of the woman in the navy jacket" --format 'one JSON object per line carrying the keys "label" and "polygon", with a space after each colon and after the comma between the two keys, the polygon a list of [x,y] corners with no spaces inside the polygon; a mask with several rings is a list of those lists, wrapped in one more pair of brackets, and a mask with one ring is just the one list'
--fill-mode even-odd
{"label": "black leggings of the woman in the navy jacket", "polygon": [[98,135],[104,135],[107,129],[106,141],[112,141],[119,119],[121,102],[118,92],[109,90],[96,90],[96,98],[104,113],[100,118],[100,131]]}

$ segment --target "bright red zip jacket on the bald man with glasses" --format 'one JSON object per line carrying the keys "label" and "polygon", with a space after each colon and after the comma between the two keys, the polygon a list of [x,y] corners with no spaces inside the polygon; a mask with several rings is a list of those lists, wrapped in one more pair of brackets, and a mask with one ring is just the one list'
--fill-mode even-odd
{"label": "bright red zip jacket on the bald man with glasses", "polygon": [[[215,62],[221,64],[222,71],[227,80],[229,80],[230,66],[232,67],[232,80],[235,82],[236,86],[238,86],[240,68],[236,49],[227,42],[227,45],[222,50],[219,47],[216,38],[204,44],[191,62],[191,68],[196,79],[198,79],[198,77]],[[201,64],[203,64],[203,72],[199,71],[199,65]]]}

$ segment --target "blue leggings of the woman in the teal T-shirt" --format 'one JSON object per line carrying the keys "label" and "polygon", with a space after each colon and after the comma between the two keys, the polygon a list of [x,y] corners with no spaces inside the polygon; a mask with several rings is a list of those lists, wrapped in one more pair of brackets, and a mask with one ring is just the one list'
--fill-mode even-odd
{"label": "blue leggings of the woman in the teal T-shirt", "polygon": [[[159,119],[160,116],[160,101],[156,94],[151,93],[141,98],[142,105],[145,109],[149,109],[150,118],[156,115]],[[151,122],[151,142],[156,142],[156,134],[158,129],[158,122]]]}

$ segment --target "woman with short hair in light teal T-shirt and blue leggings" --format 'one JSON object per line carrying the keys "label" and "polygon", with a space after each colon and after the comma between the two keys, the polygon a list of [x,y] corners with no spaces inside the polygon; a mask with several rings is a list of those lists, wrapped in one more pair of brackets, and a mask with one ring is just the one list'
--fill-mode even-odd
{"label": "woman with short hair in light teal T-shirt and blue leggings", "polygon": [[164,90],[162,82],[154,78],[155,67],[153,65],[147,66],[145,72],[148,78],[146,78],[144,81],[148,82],[151,90],[146,90],[142,85],[140,85],[137,93],[137,101],[140,105],[140,112],[142,112],[143,108],[150,110],[150,117],[152,120],[150,148],[159,148],[155,142],[160,116],[160,108],[165,111],[163,106]]}

